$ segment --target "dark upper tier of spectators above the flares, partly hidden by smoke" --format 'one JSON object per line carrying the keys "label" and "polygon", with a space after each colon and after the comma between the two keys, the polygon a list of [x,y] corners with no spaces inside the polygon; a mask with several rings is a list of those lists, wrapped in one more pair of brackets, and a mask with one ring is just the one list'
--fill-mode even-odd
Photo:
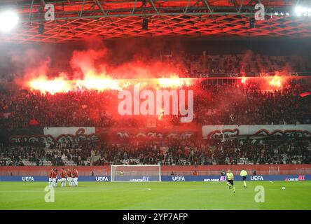
{"label": "dark upper tier of spectators above the flares, partly hidden by smoke", "polygon": [[[154,78],[163,78],[165,72],[161,69],[180,71],[180,77],[202,78],[213,76],[237,76],[249,74],[251,76],[274,76],[275,74],[309,73],[311,71],[310,57],[306,55],[261,55],[252,50],[240,53],[209,54],[203,52],[168,51],[160,52],[151,57],[139,57],[144,66],[141,71],[147,71]],[[165,68],[158,68],[157,64],[165,64]],[[69,62],[53,62],[50,73],[55,75],[62,71],[71,71]],[[141,66],[141,65],[139,65]],[[152,70],[154,69],[154,70]],[[160,71],[160,72],[159,72]],[[115,78],[132,78],[124,73],[113,73]],[[169,73],[167,71],[167,73]],[[135,73],[136,74],[136,73]]]}

